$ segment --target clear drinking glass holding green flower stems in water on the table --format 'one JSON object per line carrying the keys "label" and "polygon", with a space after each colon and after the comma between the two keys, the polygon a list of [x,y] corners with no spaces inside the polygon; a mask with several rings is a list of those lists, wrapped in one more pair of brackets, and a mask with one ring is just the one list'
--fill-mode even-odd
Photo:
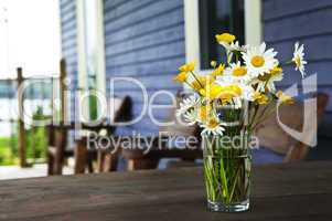
{"label": "clear drinking glass holding green flower stems in water on the table", "polygon": [[[204,177],[211,211],[240,212],[249,209],[250,136],[203,136]],[[231,141],[229,141],[231,140]]]}

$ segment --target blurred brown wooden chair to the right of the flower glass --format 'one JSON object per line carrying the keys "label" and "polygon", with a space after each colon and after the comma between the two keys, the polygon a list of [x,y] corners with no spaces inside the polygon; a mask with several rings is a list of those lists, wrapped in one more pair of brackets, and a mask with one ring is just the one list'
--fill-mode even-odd
{"label": "blurred brown wooden chair to the right of the flower glass", "polygon": [[[323,93],[317,95],[317,113],[310,112],[303,116],[303,102],[297,102],[293,105],[283,105],[279,107],[280,120],[291,128],[301,130],[302,124],[307,118],[317,117],[318,125],[321,122],[329,96]],[[276,115],[261,123],[256,131],[260,146],[264,149],[254,150],[254,162],[289,162],[306,159],[309,147],[288,135],[278,124]],[[317,128],[311,128],[302,134],[307,139],[314,139]],[[255,156],[256,154],[256,156]],[[260,156],[261,155],[261,156]],[[255,158],[256,157],[256,158]],[[264,159],[265,157],[265,159]]]}

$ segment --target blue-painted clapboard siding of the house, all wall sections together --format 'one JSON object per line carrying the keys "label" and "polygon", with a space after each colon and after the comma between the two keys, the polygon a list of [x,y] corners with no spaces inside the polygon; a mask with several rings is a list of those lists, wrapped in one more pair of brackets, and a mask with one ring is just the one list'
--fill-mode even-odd
{"label": "blue-painted clapboard siding of the house, all wall sections together", "polygon": [[[304,43],[308,73],[318,72],[319,90],[332,96],[332,1],[261,1],[264,40],[279,51],[280,57],[291,57],[296,41]],[[61,0],[62,51],[73,86],[77,85],[75,2]],[[149,95],[159,90],[175,93],[181,88],[172,82],[172,76],[185,62],[182,0],[104,0],[104,15],[107,77],[135,77],[143,83]],[[301,81],[291,66],[285,71],[287,85]],[[118,82],[115,92],[118,96],[131,96],[133,117],[140,114],[142,96],[137,85]],[[156,103],[170,104],[170,98],[160,96]],[[332,139],[329,133],[332,128],[331,103],[320,129],[320,140]],[[154,115],[162,119],[167,109],[156,110]],[[150,134],[157,133],[158,127],[146,115],[141,122],[119,133],[132,130]]]}

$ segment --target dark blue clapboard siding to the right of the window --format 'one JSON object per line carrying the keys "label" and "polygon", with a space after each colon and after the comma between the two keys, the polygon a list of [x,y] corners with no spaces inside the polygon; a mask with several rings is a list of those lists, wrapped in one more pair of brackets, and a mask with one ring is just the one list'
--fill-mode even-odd
{"label": "dark blue clapboard siding to the right of the window", "polygon": [[[264,39],[278,50],[280,57],[292,56],[292,45],[306,44],[308,73],[318,73],[319,91],[332,96],[332,1],[331,0],[263,0]],[[300,82],[300,75],[286,69],[286,84]],[[320,138],[332,140],[332,104],[319,129]],[[322,139],[320,139],[322,140]]]}

